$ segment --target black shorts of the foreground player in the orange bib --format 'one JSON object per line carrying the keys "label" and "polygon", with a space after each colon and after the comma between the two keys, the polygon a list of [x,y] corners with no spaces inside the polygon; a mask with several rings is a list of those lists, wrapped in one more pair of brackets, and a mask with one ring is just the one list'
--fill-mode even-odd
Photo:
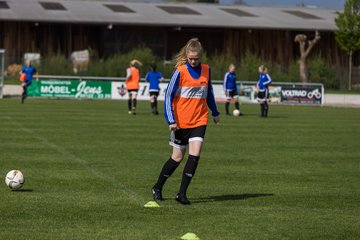
{"label": "black shorts of the foreground player in the orange bib", "polygon": [[173,147],[184,149],[192,141],[204,141],[206,125],[196,128],[180,128],[172,131],[169,144]]}

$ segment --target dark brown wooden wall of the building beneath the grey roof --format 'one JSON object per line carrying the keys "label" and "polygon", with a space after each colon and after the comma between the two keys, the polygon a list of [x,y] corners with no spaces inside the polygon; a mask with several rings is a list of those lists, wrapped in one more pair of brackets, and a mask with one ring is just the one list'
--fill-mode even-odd
{"label": "dark brown wooden wall of the building beneath the grey roof", "polygon": [[[62,54],[82,49],[94,49],[102,58],[121,54],[137,46],[147,46],[156,55],[169,59],[191,37],[199,37],[208,54],[229,53],[241,58],[247,51],[264,59],[287,66],[299,57],[297,34],[310,39],[314,31],[271,29],[169,28],[148,26],[0,22],[0,48],[6,49],[6,62],[21,63],[24,53],[38,52],[41,56]],[[329,63],[347,66],[348,57],[337,45],[333,32],[321,31],[321,40],[312,54],[320,54]],[[359,53],[354,65],[360,63]]]}

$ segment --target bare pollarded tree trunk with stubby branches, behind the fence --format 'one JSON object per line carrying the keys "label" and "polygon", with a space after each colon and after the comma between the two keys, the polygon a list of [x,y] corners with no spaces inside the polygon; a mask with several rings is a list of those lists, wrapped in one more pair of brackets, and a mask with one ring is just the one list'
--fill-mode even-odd
{"label": "bare pollarded tree trunk with stubby branches, behind the fence", "polygon": [[[300,79],[302,82],[308,82],[308,71],[307,71],[307,62],[306,59],[309,56],[311,49],[315,46],[315,44],[320,40],[320,34],[318,31],[315,33],[315,37],[313,40],[307,41],[307,36],[305,34],[298,34],[295,36],[295,42],[300,45]],[[307,48],[306,48],[307,47]]]}

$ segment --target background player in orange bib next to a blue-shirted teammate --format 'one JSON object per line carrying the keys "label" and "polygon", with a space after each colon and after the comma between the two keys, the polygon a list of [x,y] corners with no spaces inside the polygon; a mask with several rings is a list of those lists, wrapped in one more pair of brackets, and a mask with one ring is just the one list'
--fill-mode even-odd
{"label": "background player in orange bib next to a blue-shirted teammate", "polygon": [[136,97],[139,91],[141,62],[134,59],[130,62],[129,68],[126,69],[126,90],[129,94],[128,107],[129,114],[136,114]]}

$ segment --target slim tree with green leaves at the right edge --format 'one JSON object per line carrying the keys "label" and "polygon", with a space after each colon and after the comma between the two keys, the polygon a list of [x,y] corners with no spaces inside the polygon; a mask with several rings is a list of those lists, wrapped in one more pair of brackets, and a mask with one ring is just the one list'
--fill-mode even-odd
{"label": "slim tree with green leaves at the right edge", "polygon": [[337,12],[335,39],[349,55],[349,91],[351,90],[352,55],[360,50],[360,0],[347,0],[342,13]]}

